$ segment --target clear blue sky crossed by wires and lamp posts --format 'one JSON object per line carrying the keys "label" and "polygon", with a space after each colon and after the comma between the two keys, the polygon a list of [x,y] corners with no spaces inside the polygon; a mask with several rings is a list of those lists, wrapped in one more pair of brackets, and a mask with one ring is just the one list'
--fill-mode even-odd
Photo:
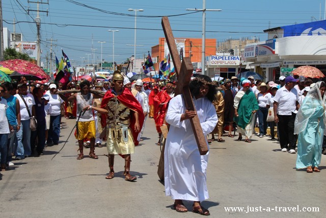
{"label": "clear blue sky crossed by wires and lamp posts", "polygon": [[[166,1],[112,1],[112,0],[94,0],[78,1],[94,8],[134,15],[132,9],[144,9],[144,12],[138,12],[137,15],[144,16],[165,16],[189,13],[186,8],[202,8],[202,0],[166,0]],[[43,2],[46,2],[43,0]],[[149,4],[150,3],[150,4]],[[36,12],[30,12],[27,15],[24,11],[28,9],[36,10],[36,4],[28,4],[26,0],[2,1],[3,19],[12,22],[13,18],[20,21],[16,25],[16,32],[22,32],[24,40],[36,41],[35,23],[24,23],[23,21],[33,21]],[[252,38],[260,37],[260,40],[266,39],[263,30],[274,27],[292,25],[296,23],[310,22],[319,20],[321,4],[321,18],[324,18],[324,0],[206,0],[207,9],[222,9],[221,12],[206,13],[206,38],[215,38],[222,41],[228,38]],[[21,7],[21,6],[22,7]],[[41,17],[41,49],[42,61],[46,51],[49,50],[49,41],[51,37],[57,44],[53,47],[58,58],[61,57],[61,49],[67,54],[72,63],[76,66],[81,65],[85,57],[91,54],[91,48],[97,49],[95,60],[100,60],[101,45],[98,41],[106,41],[102,48],[102,57],[105,61],[112,61],[112,32],[108,29],[116,29],[115,33],[115,57],[117,63],[123,62],[133,55],[134,44],[134,17],[103,13],[87,7],[78,6],[69,0],[50,0],[49,5],[41,4],[40,10],[49,10],[49,16],[46,13],[40,13]],[[170,17],[171,27],[174,30],[175,37],[193,37],[201,38],[202,13],[194,13],[182,16]],[[137,17],[137,44],[144,46],[137,47],[137,57],[143,57],[147,51],[151,51],[151,46],[158,44],[158,38],[164,37],[160,25],[159,17]],[[49,25],[45,23],[53,23]],[[66,25],[85,25],[100,27],[76,27]],[[4,27],[8,27],[13,32],[13,25],[4,22]],[[129,29],[130,28],[130,29]],[[147,30],[141,30],[147,29]],[[155,30],[160,29],[160,30]],[[180,30],[180,31],[178,31]],[[182,30],[182,31],[181,31]],[[210,32],[211,31],[211,32]],[[93,38],[93,45],[92,45]],[[92,63],[92,55],[89,56],[89,62]]]}

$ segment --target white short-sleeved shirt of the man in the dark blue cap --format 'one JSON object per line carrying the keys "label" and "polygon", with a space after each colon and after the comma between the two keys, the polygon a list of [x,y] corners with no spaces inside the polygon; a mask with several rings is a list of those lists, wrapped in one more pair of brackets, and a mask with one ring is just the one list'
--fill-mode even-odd
{"label": "white short-sleeved shirt of the man in the dark blue cap", "polygon": [[299,96],[295,88],[288,91],[285,86],[277,90],[274,102],[278,103],[277,113],[280,115],[291,115],[297,113],[296,102],[299,101]]}

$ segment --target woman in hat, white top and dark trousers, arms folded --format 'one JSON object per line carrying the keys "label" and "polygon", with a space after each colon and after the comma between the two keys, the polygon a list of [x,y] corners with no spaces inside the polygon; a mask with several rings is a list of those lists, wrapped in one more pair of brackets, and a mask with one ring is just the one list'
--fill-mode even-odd
{"label": "woman in hat, white top and dark trousers, arms folded", "polygon": [[268,115],[268,109],[266,108],[266,103],[268,98],[271,97],[269,90],[269,86],[266,85],[266,83],[261,83],[259,86],[257,86],[257,90],[259,90],[259,93],[257,94],[257,101],[259,109],[257,111],[258,115],[258,122],[259,122],[259,138],[264,137],[266,135],[267,130],[267,115]]}

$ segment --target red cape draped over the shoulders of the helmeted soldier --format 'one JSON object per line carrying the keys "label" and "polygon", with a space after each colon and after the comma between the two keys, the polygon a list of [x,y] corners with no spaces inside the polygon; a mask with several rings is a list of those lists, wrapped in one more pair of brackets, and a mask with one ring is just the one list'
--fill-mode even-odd
{"label": "red cape draped over the shoulders of the helmeted soldier", "polygon": [[[139,132],[134,131],[134,125],[135,125],[136,120],[133,116],[133,113],[138,112],[139,126],[140,126],[140,130],[141,130],[143,127],[143,124],[144,124],[144,119],[145,119],[143,108],[142,108],[141,104],[137,101],[137,99],[134,98],[131,91],[127,88],[124,88],[122,93],[119,95],[115,95],[114,93],[112,93],[111,90],[108,90],[102,99],[101,108],[105,108],[108,101],[110,101],[112,98],[114,98],[114,96],[117,96],[117,99],[119,100],[119,102],[131,110],[129,127],[130,127],[130,130],[132,133],[134,145],[138,146],[139,141],[137,140],[137,137],[138,137]],[[106,126],[106,114],[102,114],[101,123],[102,123],[103,127]]]}

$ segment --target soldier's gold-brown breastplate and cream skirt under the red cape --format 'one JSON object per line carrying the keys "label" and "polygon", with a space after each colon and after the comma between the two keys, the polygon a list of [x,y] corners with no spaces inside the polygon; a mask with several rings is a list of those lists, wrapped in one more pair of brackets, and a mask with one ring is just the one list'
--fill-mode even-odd
{"label": "soldier's gold-brown breastplate and cream skirt under the red cape", "polygon": [[129,128],[130,109],[121,104],[115,96],[107,103],[106,148],[108,154],[133,154],[134,142]]}

